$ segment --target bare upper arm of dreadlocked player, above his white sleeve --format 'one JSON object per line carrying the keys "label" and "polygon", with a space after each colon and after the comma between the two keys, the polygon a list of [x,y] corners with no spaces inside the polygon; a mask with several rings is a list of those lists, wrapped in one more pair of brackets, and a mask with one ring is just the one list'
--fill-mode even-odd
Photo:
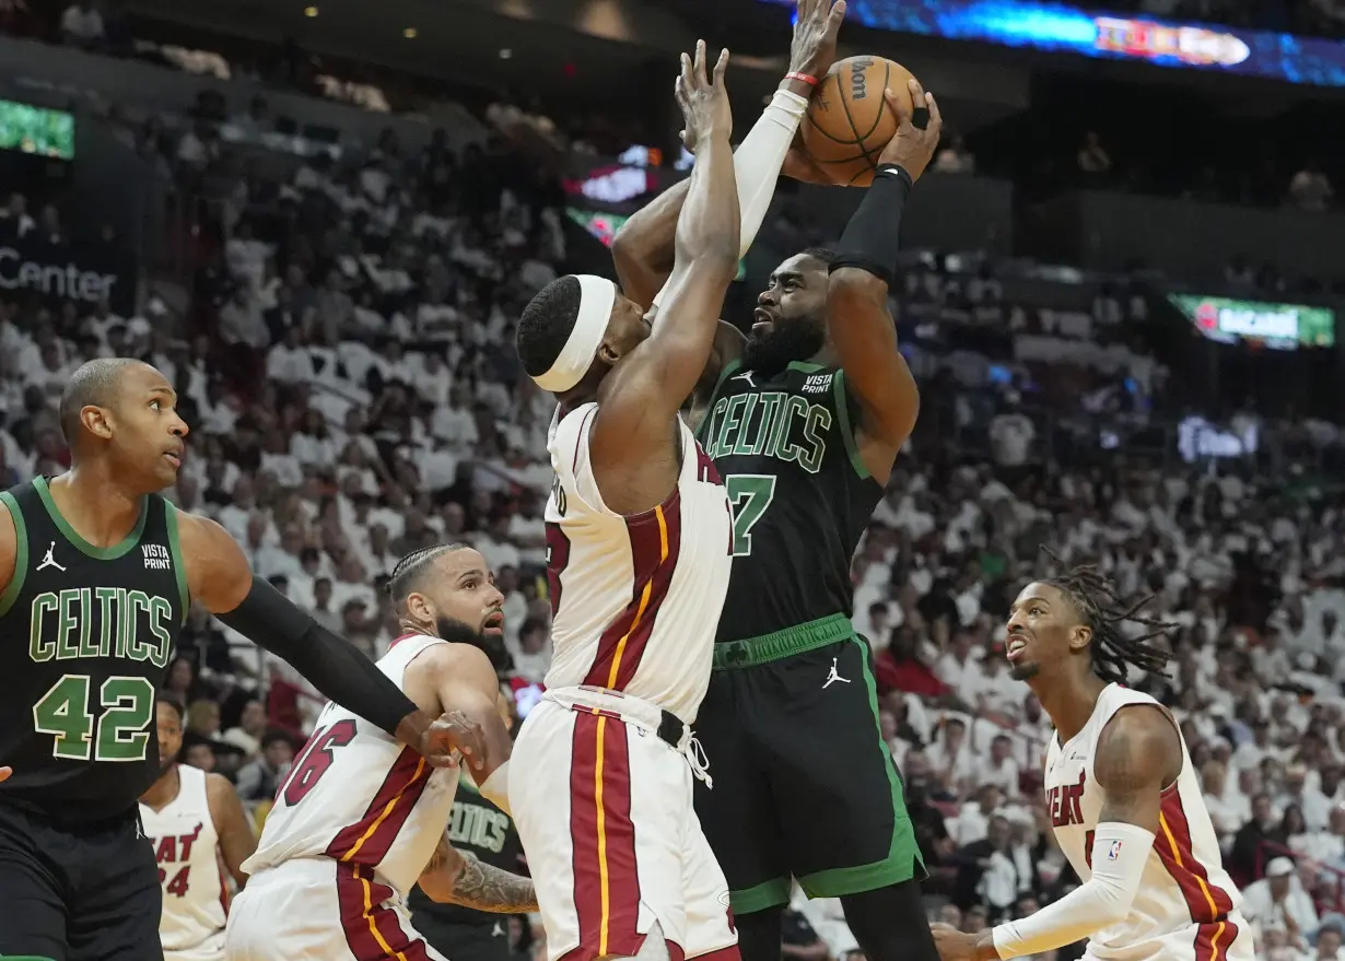
{"label": "bare upper arm of dreadlocked player, above his white sleeve", "polygon": [[1159,707],[1120,708],[1098,738],[1093,776],[1104,801],[1099,821],[1119,821],[1157,835],[1163,788],[1181,773],[1181,739]]}

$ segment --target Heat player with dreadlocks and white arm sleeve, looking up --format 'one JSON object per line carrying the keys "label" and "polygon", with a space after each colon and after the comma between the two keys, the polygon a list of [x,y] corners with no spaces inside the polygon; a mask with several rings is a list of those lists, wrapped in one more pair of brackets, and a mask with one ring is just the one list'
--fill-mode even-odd
{"label": "Heat player with dreadlocks and white arm sleeve, looking up", "polygon": [[1124,687],[1162,671],[1171,626],[1126,605],[1092,565],[1029,583],[1009,609],[1006,657],[1056,726],[1046,806],[1083,884],[979,934],[933,927],[943,961],[1013,958],[1088,939],[1099,961],[1250,961],[1241,895],[1177,722]]}

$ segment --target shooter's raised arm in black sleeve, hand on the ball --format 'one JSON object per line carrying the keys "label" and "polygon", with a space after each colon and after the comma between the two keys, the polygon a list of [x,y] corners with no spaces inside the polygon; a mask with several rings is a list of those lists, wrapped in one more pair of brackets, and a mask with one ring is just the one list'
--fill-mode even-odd
{"label": "shooter's raised arm in black sleeve, hand on the ball", "polygon": [[859,456],[880,483],[886,483],[901,445],[920,411],[920,392],[897,351],[897,328],[888,290],[897,267],[901,212],[912,184],[939,145],[943,118],[932,94],[911,81],[911,97],[928,109],[919,128],[902,97],[886,91],[898,118],[897,133],[878,159],[859,208],[841,235],[827,285],[827,332],[846,384],[859,403]]}

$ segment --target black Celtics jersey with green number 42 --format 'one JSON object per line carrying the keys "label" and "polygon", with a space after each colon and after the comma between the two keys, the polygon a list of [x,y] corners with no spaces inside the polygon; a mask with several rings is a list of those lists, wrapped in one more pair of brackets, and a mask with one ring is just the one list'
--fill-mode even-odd
{"label": "black Celtics jersey with green number 42", "polygon": [[159,777],[155,692],[187,613],[176,508],[147,496],[126,538],[97,547],[43,477],[0,493],[13,577],[0,593],[0,802],[91,823],[134,809]]}

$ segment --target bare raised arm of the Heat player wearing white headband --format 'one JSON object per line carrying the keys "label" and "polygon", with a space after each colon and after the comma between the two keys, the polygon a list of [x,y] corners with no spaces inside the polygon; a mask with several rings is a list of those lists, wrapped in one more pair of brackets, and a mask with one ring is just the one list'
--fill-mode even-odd
{"label": "bare raised arm of the Heat player wearing white headband", "polygon": [[737,271],[738,192],[729,147],[733,117],[724,86],[728,63],[724,51],[713,74],[707,73],[703,40],[697,44],[694,63],[682,55],[678,103],[699,153],[678,218],[672,276],[652,332],[621,358],[599,391],[589,452],[600,484],[615,466],[671,450],[677,413],[710,358],[724,294]]}

